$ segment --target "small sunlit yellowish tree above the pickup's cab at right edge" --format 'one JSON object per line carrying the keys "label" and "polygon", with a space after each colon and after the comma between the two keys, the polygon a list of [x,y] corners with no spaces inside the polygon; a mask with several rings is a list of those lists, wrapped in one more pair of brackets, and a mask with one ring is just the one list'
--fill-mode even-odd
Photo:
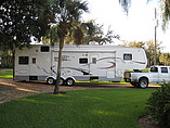
{"label": "small sunlit yellowish tree above the pickup's cab at right edge", "polygon": [[159,60],[164,65],[166,66],[170,65],[170,53],[169,52],[161,53]]}

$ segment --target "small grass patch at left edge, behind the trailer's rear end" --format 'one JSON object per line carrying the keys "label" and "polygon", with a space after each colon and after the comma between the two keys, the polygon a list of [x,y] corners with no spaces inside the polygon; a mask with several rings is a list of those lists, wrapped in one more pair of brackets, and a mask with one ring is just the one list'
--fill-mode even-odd
{"label": "small grass patch at left edge, behind the trailer's rear end", "polygon": [[0,69],[0,78],[13,78],[12,69]]}

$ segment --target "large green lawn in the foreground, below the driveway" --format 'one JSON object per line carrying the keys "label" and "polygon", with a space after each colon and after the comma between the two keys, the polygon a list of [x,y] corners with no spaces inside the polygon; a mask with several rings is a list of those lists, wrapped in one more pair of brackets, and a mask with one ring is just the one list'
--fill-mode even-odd
{"label": "large green lawn in the foreground, below the driveway", "polygon": [[155,89],[101,89],[38,94],[0,104],[1,128],[140,128]]}

